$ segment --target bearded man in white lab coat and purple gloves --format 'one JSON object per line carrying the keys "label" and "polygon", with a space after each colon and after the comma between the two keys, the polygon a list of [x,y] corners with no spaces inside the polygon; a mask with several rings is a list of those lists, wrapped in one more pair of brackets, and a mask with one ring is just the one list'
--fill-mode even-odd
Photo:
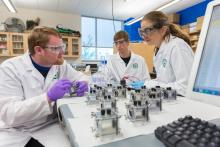
{"label": "bearded man in white lab coat and purple gloves", "polygon": [[54,104],[88,77],[63,60],[65,45],[53,28],[37,27],[28,38],[29,52],[0,66],[0,146],[70,146],[59,128]]}

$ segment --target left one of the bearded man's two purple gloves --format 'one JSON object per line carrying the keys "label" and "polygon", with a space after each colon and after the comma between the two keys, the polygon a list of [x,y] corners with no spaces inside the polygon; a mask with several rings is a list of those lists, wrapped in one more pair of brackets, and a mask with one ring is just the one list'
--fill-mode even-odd
{"label": "left one of the bearded man's two purple gloves", "polygon": [[47,92],[48,99],[56,101],[64,96],[65,93],[70,91],[73,83],[70,80],[62,79],[57,81]]}

